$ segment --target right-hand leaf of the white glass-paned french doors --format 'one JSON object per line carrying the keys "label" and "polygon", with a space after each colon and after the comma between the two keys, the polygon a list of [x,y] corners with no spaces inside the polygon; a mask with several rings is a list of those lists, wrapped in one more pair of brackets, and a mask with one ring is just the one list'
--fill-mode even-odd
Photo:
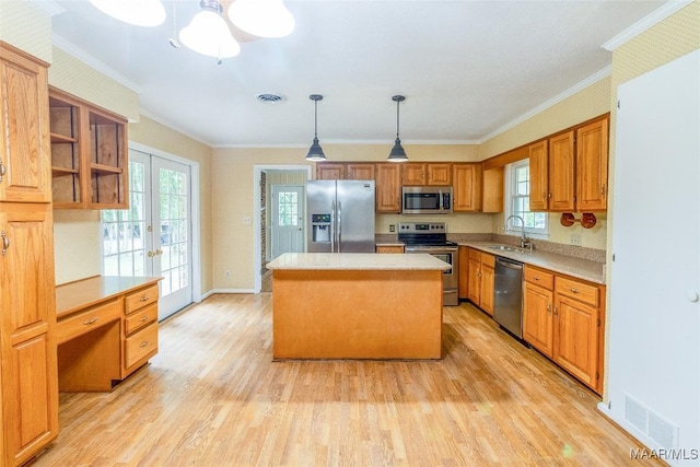
{"label": "right-hand leaf of the white glass-paned french doors", "polygon": [[151,156],[153,276],[161,276],[159,319],[192,302],[189,166]]}

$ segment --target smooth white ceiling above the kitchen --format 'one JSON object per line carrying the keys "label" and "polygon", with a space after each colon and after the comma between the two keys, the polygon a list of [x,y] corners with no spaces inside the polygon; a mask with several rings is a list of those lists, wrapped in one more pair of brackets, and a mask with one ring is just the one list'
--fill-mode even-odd
{"label": "smooth white ceiling above the kitchen", "polygon": [[[665,1],[294,1],[292,35],[242,44],[217,65],[168,45],[199,10],[164,1],[153,28],[84,0],[56,1],[57,43],[114,70],[141,109],[210,145],[308,145],[314,103],[326,142],[480,142],[605,70],[602,45]],[[176,11],[173,21],[173,9]],[[175,24],[176,23],[176,24]],[[66,46],[63,46],[66,47]],[[259,93],[284,97],[278,104]]]}

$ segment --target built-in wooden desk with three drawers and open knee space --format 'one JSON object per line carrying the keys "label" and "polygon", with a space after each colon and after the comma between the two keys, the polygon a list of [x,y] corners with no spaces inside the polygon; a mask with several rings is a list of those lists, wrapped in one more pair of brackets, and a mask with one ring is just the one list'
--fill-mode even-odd
{"label": "built-in wooden desk with three drawers and open knee space", "polygon": [[112,390],[158,352],[160,280],[96,276],[56,288],[59,390]]}

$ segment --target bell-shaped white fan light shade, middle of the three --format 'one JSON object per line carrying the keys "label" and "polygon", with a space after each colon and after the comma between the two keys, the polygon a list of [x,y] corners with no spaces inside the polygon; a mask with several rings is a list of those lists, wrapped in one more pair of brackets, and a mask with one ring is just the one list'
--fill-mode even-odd
{"label": "bell-shaped white fan light shade, middle of the three", "polygon": [[199,5],[201,11],[179,32],[180,42],[209,57],[228,58],[238,55],[241,46],[221,16],[221,4],[217,0],[201,0]]}

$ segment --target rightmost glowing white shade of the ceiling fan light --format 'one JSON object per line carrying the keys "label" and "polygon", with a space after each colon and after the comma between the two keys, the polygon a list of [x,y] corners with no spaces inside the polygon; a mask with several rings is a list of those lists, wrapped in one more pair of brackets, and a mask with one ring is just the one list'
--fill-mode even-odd
{"label": "rightmost glowing white shade of the ceiling fan light", "polygon": [[294,31],[294,16],[282,0],[235,0],[229,7],[229,19],[258,37],[284,37]]}

